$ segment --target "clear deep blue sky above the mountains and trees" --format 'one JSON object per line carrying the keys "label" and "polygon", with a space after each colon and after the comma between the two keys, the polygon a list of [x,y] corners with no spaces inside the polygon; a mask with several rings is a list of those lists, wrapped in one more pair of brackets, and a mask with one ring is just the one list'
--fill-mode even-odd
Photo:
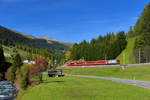
{"label": "clear deep blue sky above the mountains and trees", "polygon": [[35,37],[90,41],[128,32],[150,0],[0,0],[0,25]]}

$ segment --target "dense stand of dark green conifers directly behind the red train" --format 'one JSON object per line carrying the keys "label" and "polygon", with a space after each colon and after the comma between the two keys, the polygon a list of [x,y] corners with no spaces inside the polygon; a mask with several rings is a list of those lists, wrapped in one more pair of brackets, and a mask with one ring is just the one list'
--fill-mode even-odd
{"label": "dense stand of dark green conifers directly behind the red train", "polygon": [[86,61],[115,59],[127,44],[126,34],[122,31],[116,36],[108,33],[106,36],[99,36],[92,39],[90,43],[85,40],[75,44],[71,50],[73,60],[83,59]]}

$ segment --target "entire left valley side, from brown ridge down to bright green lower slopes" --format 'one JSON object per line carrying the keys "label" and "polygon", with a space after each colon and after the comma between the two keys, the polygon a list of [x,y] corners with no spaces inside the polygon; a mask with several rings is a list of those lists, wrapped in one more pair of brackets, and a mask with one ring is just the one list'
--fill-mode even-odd
{"label": "entire left valley side, from brown ridge down to bright green lower slopes", "polygon": [[19,53],[22,60],[55,59],[57,64],[62,62],[65,52],[73,45],[49,38],[33,37],[3,26],[0,26],[0,44],[7,62],[13,62],[14,55]]}

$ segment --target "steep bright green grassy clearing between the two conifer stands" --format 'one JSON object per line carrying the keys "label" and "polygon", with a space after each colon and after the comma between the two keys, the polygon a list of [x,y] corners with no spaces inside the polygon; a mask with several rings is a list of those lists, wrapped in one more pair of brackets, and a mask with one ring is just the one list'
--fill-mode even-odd
{"label": "steep bright green grassy clearing between the two conifer stands", "polygon": [[123,50],[123,52],[116,58],[120,60],[121,64],[123,64],[123,55],[125,56],[125,64],[135,63],[134,57],[132,57],[135,39],[136,37],[128,39],[128,44],[127,44],[126,49]]}

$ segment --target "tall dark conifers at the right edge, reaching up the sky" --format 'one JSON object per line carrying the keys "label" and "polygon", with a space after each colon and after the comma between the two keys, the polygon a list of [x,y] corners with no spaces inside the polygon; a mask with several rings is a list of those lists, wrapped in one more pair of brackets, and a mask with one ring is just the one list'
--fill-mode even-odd
{"label": "tall dark conifers at the right edge, reaching up the sky", "polygon": [[138,19],[135,25],[135,32],[140,35],[135,42],[135,48],[141,45],[141,41],[143,41],[141,48],[150,46],[150,3],[144,8],[141,17]]}

